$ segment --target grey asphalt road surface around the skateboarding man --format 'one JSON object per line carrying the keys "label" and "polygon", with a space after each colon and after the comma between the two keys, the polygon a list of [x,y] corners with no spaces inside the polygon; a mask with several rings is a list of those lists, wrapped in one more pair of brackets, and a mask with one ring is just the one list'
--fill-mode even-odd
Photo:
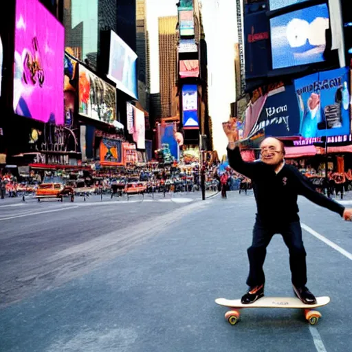
{"label": "grey asphalt road surface around the skateboarding man", "polygon": [[[352,224],[300,210],[322,319],[247,309],[232,327],[214,299],[247,289],[252,195],[0,203],[0,351],[350,351]],[[265,274],[266,296],[293,296],[281,236]]]}

